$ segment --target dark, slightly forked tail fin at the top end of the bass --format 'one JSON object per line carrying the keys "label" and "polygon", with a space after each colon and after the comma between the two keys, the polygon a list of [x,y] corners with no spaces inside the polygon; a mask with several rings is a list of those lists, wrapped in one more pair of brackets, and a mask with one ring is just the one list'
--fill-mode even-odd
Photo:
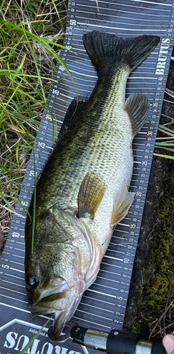
{"label": "dark, slightly forked tail fin at the top end of the bass", "polygon": [[128,64],[132,71],[148,57],[159,41],[157,35],[140,35],[123,39],[95,30],[83,35],[84,47],[97,70],[106,64],[122,62]]}

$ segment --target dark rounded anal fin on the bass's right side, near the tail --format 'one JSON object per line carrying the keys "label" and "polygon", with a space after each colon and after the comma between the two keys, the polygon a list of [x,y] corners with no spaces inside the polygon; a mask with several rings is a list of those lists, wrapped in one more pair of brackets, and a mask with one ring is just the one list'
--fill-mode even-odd
{"label": "dark rounded anal fin on the bass's right side, near the tail", "polygon": [[136,93],[127,98],[124,110],[131,120],[133,136],[137,135],[137,132],[139,132],[144,122],[146,122],[149,115],[149,108],[149,99],[144,95]]}

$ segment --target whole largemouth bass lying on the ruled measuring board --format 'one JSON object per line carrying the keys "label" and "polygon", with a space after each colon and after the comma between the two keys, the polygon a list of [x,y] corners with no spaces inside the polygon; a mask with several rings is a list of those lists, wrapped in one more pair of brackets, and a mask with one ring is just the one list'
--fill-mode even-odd
{"label": "whole largemouth bass lying on the ruled measuring board", "polygon": [[69,105],[37,181],[35,220],[32,198],[25,222],[30,311],[54,314],[53,338],[95,281],[113,229],[134,200],[132,140],[149,116],[149,100],[136,93],[125,101],[125,90],[129,74],[159,41],[156,35],[83,35],[98,81],[89,98],[74,98]]}

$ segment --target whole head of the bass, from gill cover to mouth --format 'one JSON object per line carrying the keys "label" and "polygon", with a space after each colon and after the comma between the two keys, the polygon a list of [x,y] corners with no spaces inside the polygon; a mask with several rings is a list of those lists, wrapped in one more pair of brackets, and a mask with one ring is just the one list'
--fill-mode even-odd
{"label": "whole head of the bass, from gill cover to mouth", "polygon": [[88,243],[84,251],[85,268],[83,251],[79,251],[81,230],[70,217],[59,214],[49,210],[37,218],[33,251],[28,251],[30,225],[25,228],[25,286],[31,314],[54,314],[54,336],[62,332],[74,314],[86,289],[86,273],[91,266]]}

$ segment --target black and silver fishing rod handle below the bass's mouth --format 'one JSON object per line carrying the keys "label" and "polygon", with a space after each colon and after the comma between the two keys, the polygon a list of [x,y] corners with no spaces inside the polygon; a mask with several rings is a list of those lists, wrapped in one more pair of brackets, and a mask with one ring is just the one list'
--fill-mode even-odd
{"label": "black and silver fishing rod handle below the bass's mouth", "polygon": [[110,333],[95,331],[80,326],[71,329],[71,338],[88,348],[105,350],[108,354],[167,354],[162,338],[149,341],[141,333],[112,329]]}

